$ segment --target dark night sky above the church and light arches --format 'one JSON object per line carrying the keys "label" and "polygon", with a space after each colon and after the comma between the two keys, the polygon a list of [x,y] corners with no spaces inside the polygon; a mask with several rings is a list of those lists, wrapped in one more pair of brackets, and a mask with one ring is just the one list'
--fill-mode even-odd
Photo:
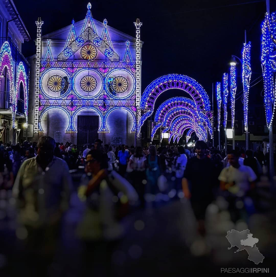
{"label": "dark night sky above the church and light arches", "polygon": [[[261,75],[261,23],[264,19],[265,1],[249,0],[193,0],[193,1],[90,1],[93,18],[135,37],[133,22],[138,17],[142,22],[142,91],[161,75],[179,73],[196,79],[205,88],[212,102],[212,82],[222,81],[224,72],[229,73],[231,54],[241,58],[244,30],[247,41],[252,42],[252,84],[249,107],[263,101]],[[242,3],[250,4],[242,4]],[[22,17],[32,41],[25,42],[25,56],[35,53],[35,20],[44,21],[42,35],[48,34],[84,19],[87,0],[79,1],[19,1],[14,3]],[[237,5],[240,4],[240,5]],[[270,1],[270,12],[276,11],[276,1]],[[238,65],[237,106],[242,105],[239,93],[241,65]],[[215,88],[214,88],[215,89]],[[157,105],[183,92],[167,91],[158,98]],[[262,92],[263,95],[263,92]],[[254,101],[253,101],[254,99]],[[215,98],[214,98],[215,100]],[[230,98],[229,98],[230,100]],[[242,106],[241,106],[242,108]],[[215,104],[216,110],[216,104]],[[263,110],[264,112],[264,110]],[[216,112],[215,112],[216,114]],[[243,112],[237,114],[242,117]],[[228,118],[231,117],[230,111]],[[265,124],[265,121],[264,121]]]}

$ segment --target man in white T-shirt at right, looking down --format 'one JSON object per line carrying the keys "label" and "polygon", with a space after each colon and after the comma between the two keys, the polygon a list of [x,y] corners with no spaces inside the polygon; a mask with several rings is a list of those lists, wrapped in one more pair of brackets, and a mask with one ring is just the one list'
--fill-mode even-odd
{"label": "man in white T-shirt at right, looking down", "polygon": [[[251,167],[239,163],[239,156],[238,150],[230,150],[227,155],[230,166],[223,168],[218,177],[221,190],[226,192],[225,198],[229,203],[228,209],[233,222],[241,216],[246,220],[245,210],[248,214],[254,212],[250,194],[253,192],[257,176]],[[237,206],[238,201],[244,203],[243,208]]]}

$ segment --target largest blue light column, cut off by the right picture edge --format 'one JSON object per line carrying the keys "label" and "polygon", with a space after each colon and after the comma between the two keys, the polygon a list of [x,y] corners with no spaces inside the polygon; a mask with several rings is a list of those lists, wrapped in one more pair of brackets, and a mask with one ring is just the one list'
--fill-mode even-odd
{"label": "largest blue light column, cut off by the right picture edge", "polygon": [[274,176],[273,158],[273,117],[275,111],[275,70],[276,70],[276,13],[269,15],[269,5],[262,24],[262,74],[264,78],[264,104],[267,127],[269,129],[269,170],[270,176]]}

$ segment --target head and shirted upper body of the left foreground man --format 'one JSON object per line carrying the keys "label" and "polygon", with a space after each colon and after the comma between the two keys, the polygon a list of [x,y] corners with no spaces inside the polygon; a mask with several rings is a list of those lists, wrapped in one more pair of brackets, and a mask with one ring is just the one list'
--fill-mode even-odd
{"label": "head and shirted upper body of the left foreground man", "polygon": [[55,146],[53,138],[41,137],[37,156],[22,163],[14,182],[13,194],[21,202],[25,216],[30,208],[37,213],[33,219],[22,218],[30,227],[56,222],[69,204],[72,179],[66,162],[54,156]]}

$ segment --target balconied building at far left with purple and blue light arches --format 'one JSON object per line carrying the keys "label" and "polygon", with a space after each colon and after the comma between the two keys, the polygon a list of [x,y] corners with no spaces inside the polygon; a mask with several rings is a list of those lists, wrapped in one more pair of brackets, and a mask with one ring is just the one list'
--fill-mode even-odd
{"label": "balconied building at far left with purple and blue light arches", "polygon": [[30,65],[21,45],[29,40],[13,1],[0,1],[0,140],[6,143],[22,140],[28,131]]}

